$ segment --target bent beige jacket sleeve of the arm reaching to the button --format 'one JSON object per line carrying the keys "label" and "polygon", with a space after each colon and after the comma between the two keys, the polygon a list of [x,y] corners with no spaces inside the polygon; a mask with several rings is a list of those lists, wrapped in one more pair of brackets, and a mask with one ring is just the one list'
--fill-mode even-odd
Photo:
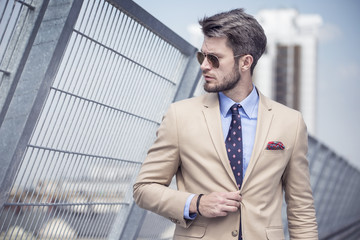
{"label": "bent beige jacket sleeve of the arm reaching to the button", "polygon": [[180,164],[176,110],[171,105],[140,169],[133,196],[141,208],[188,227],[191,221],[184,219],[184,206],[191,194],[169,188]]}

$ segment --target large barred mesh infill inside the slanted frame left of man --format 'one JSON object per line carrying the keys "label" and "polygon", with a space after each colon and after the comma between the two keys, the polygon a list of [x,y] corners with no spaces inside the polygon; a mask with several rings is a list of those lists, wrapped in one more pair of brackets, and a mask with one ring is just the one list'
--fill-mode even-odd
{"label": "large barred mesh infill inside the slanted frame left of man", "polygon": [[133,179],[194,57],[104,0],[84,1],[57,54],[0,209],[0,238],[106,239],[121,229]]}

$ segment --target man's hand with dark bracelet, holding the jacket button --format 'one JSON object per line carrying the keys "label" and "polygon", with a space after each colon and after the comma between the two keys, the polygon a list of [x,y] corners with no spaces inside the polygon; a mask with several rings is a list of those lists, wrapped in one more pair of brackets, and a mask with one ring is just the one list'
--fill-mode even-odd
{"label": "man's hand with dark bracelet, holding the jacket button", "polygon": [[[197,213],[196,201],[197,197],[194,197],[190,204],[190,212]],[[202,216],[224,217],[229,212],[236,212],[240,207],[242,198],[240,192],[212,192],[207,195],[203,195],[200,199],[199,211]]]}

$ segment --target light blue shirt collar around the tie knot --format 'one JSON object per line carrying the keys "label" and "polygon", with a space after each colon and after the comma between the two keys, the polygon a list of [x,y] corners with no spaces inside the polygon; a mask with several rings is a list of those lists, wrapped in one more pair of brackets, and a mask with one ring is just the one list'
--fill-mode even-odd
{"label": "light blue shirt collar around the tie knot", "polygon": [[[219,92],[219,101],[220,101],[220,112],[221,114],[226,117],[229,112],[229,109],[234,102],[231,98],[227,97],[224,93]],[[244,100],[240,102],[242,108],[244,109],[245,114],[249,118],[257,118],[257,105],[259,103],[259,95],[256,91],[255,86],[253,85],[253,90]]]}

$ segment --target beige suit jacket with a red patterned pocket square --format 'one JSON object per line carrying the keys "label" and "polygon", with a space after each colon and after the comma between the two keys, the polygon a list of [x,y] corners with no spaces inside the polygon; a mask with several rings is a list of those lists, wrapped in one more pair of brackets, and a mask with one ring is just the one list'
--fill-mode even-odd
{"label": "beige suit jacket with a red patterned pocket square", "polygon": [[[318,239],[309,181],[307,131],[299,112],[259,93],[255,143],[241,208],[226,217],[183,217],[190,194],[237,191],[221,127],[218,95],[173,103],[134,184],[135,202],[177,224],[174,239],[284,239],[283,190],[291,239]],[[266,150],[281,141],[285,150]],[[168,186],[176,175],[178,190]]]}

